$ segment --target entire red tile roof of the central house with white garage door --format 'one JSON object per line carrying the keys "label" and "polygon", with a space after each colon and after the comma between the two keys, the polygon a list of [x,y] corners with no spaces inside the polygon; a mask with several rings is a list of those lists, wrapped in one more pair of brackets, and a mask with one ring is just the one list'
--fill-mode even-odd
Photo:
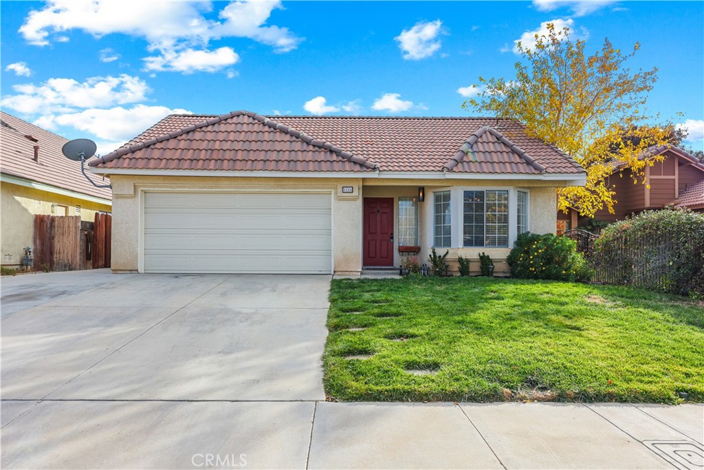
{"label": "entire red tile roof of the central house with white garage door", "polygon": [[220,117],[172,115],[104,159],[107,163],[92,165],[584,174],[562,151],[529,137],[517,121],[494,118],[264,117],[246,111]]}

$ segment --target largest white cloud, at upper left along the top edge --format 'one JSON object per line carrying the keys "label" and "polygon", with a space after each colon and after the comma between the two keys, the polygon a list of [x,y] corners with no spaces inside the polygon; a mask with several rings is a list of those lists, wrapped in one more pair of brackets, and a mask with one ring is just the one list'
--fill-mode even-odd
{"label": "largest white cloud, at upper left along the top edge", "polygon": [[68,30],[95,37],[113,33],[141,37],[149,51],[159,53],[145,58],[150,70],[212,72],[223,62],[239,60],[229,47],[209,51],[212,39],[246,37],[277,52],[298,47],[302,38],[286,27],[265,24],[275,8],[282,8],[280,1],[232,1],[219,12],[219,20],[211,20],[205,15],[212,16],[213,3],[206,1],[142,0],[126,8],[122,0],[49,0],[41,10],[29,13],[20,33],[38,46],[58,40],[56,33]]}

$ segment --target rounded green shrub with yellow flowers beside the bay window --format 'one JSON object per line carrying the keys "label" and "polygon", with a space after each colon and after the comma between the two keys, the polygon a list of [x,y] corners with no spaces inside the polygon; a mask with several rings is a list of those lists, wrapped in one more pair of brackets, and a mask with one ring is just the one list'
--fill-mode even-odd
{"label": "rounded green shrub with yellow flowers beside the bay window", "polygon": [[511,276],[524,279],[589,280],[591,270],[577,242],[548,233],[522,233],[508,255]]}

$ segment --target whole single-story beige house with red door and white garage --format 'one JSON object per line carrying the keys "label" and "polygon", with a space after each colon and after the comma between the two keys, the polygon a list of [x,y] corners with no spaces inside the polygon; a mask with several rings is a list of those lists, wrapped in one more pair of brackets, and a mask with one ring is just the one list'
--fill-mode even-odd
{"label": "whole single-story beige house with red door and white garage", "polygon": [[113,184],[111,267],[140,273],[353,276],[434,246],[501,275],[586,179],[515,120],[246,111],[168,116],[90,165]]}

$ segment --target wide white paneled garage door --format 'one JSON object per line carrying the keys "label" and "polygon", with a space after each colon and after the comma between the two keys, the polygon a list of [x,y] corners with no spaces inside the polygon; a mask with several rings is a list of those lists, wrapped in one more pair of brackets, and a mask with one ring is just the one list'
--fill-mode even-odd
{"label": "wide white paneled garage door", "polygon": [[146,192],[146,273],[332,272],[330,194]]}

